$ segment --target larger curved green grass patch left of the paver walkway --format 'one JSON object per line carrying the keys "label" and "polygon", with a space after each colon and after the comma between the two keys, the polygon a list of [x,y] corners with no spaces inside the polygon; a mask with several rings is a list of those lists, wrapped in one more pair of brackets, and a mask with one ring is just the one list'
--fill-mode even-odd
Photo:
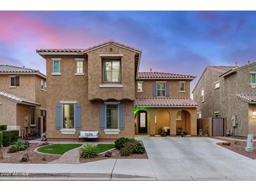
{"label": "larger curved green grass patch left of the paver walkway", "polygon": [[49,144],[46,146],[42,146],[37,151],[41,153],[48,153],[48,154],[57,154],[62,155],[71,149],[75,149],[82,144]]}

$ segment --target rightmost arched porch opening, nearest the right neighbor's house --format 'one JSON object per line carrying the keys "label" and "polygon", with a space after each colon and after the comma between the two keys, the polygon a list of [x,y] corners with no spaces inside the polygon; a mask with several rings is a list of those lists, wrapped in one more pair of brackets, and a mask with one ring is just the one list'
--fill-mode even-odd
{"label": "rightmost arched porch opening, nearest the right neighbor's house", "polygon": [[191,135],[191,115],[189,111],[181,110],[176,114],[176,134],[182,135],[182,132]]}

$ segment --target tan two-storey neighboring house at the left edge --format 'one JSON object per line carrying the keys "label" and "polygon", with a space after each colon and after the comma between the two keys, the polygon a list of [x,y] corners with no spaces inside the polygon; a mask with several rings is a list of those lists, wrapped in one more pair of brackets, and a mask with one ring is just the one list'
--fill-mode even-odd
{"label": "tan two-storey neighboring house at the left edge", "polygon": [[0,65],[0,124],[40,135],[46,130],[45,116],[46,76],[35,69]]}

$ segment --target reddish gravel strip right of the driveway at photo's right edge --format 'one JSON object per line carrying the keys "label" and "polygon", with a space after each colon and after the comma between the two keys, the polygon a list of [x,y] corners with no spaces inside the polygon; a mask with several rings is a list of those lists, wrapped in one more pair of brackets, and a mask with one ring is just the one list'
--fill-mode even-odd
{"label": "reddish gravel strip right of the driveway at photo's right edge", "polygon": [[[247,152],[245,151],[245,146],[246,146],[246,140],[244,142],[241,141],[237,141],[235,144],[235,141],[229,140],[229,139],[222,139],[222,138],[216,138],[216,139],[220,139],[224,142],[231,142],[230,146],[227,145],[223,145],[222,142],[217,143],[220,146],[223,146],[226,149],[229,149],[231,151],[234,151],[236,153],[241,154],[242,156],[248,157],[248,158],[252,158],[252,159],[256,159],[256,151],[252,151],[252,152]],[[253,142],[253,147],[256,150],[256,143]]]}

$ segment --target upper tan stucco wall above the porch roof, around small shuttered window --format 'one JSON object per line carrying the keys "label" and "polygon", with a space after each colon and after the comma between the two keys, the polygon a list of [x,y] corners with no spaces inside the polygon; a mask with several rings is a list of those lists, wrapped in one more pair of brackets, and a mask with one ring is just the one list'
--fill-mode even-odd
{"label": "upper tan stucco wall above the porch roof, around small shuttered window", "polygon": [[[143,82],[143,92],[137,92],[137,81]],[[190,81],[188,80],[137,80],[135,83],[135,97],[153,97],[153,84],[156,81],[167,81],[169,84],[169,97],[190,97]],[[180,92],[180,81],[185,81],[185,92]]]}

